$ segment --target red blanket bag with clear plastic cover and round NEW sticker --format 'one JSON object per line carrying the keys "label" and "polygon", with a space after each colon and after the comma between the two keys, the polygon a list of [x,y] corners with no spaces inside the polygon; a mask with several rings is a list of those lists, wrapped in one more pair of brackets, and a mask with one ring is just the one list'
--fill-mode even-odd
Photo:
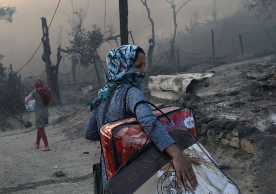
{"label": "red blanket bag with clear plastic cover and round NEW sticker", "polygon": [[[196,131],[195,113],[190,107],[167,107],[153,114],[168,131],[184,130],[198,138]],[[170,121],[170,122],[169,122]],[[100,141],[103,151],[103,158],[107,172],[107,179],[110,180],[131,156],[151,140],[138,124],[135,117],[124,118],[103,125],[100,128]]]}

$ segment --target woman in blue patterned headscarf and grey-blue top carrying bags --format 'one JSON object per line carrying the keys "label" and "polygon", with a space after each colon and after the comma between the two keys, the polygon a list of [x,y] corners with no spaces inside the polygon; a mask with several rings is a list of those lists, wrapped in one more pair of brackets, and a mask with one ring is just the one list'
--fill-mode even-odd
{"label": "woman in blue patterned headscarf and grey-blue top carrying bags", "polygon": [[[92,141],[99,141],[99,129],[102,125],[103,112],[107,99],[113,90],[116,89],[116,92],[112,97],[105,123],[124,118],[125,113],[122,110],[125,110],[127,117],[133,116],[136,103],[146,100],[140,89],[141,82],[146,74],[145,53],[142,48],[134,45],[124,45],[116,50],[112,49],[107,55],[107,66],[106,86],[100,89],[99,96],[92,101],[92,113],[85,128],[85,138]],[[129,87],[131,88],[128,90],[126,102],[124,102],[124,96]],[[198,182],[191,163],[200,164],[200,162],[182,154],[160,122],[157,121],[152,130],[156,117],[148,104],[138,104],[135,111],[139,124],[147,135],[150,135],[154,144],[161,152],[168,153],[172,158],[178,185],[180,186],[182,180],[185,189],[189,190],[188,179],[195,190]],[[103,187],[105,188],[107,177],[103,160],[102,174]]]}

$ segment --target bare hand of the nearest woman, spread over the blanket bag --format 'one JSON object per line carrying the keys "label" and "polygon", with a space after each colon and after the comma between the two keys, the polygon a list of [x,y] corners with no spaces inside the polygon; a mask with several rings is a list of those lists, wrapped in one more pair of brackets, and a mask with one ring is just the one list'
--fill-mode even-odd
{"label": "bare hand of the nearest woman, spread over the blanket bag", "polygon": [[181,181],[184,184],[185,190],[189,190],[189,186],[187,180],[190,181],[191,186],[194,190],[197,189],[198,181],[194,170],[192,168],[192,163],[194,164],[201,164],[198,159],[191,158],[189,156],[184,155],[180,149],[175,146],[175,144],[171,144],[168,146],[165,151],[170,155],[172,158],[173,166],[176,171],[177,183],[180,187]]}

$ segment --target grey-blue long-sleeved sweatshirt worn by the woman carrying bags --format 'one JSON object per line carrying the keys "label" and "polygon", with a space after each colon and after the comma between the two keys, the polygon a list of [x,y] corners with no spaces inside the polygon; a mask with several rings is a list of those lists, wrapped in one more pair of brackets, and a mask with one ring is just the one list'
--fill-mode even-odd
{"label": "grey-blue long-sleeved sweatshirt worn by the woman carrying bags", "polygon": [[[135,105],[141,100],[147,100],[140,89],[132,87],[128,90],[126,101],[124,101],[126,91],[127,86],[121,87],[115,92],[107,112],[105,123],[122,119],[125,117],[125,113],[126,117],[134,116]],[[102,126],[102,118],[107,101],[108,100],[103,101],[92,110],[84,132],[85,139],[92,141],[100,140],[99,129]],[[137,105],[136,117],[146,134],[149,135],[151,133],[151,140],[161,152],[163,152],[169,145],[175,143],[159,121],[156,122],[155,127],[152,129],[156,117],[153,115],[148,104],[141,103]],[[102,160],[102,173],[103,187],[105,188],[105,185],[107,184],[107,175],[104,160]]]}

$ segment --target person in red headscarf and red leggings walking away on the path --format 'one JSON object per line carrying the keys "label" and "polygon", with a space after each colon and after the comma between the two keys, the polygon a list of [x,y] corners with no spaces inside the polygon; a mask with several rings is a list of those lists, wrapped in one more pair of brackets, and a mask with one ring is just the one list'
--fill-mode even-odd
{"label": "person in red headscarf and red leggings walking away on the path", "polygon": [[33,141],[35,148],[39,148],[40,139],[44,142],[41,151],[49,151],[47,136],[45,133],[45,125],[48,124],[48,104],[52,99],[51,91],[43,78],[34,79],[35,89],[25,98],[25,105],[32,99],[35,100],[35,127],[37,128],[36,140]]}

